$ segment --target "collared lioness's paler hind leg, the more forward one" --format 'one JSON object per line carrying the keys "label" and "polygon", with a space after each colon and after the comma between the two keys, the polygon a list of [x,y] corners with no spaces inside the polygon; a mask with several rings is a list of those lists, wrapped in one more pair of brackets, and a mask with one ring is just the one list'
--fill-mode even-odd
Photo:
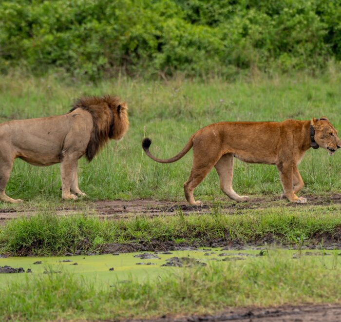
{"label": "collared lioness's paler hind leg, the more forward one", "polygon": [[234,201],[249,201],[248,196],[239,196],[232,188],[233,179],[233,155],[225,154],[215,164],[220,180],[220,189]]}

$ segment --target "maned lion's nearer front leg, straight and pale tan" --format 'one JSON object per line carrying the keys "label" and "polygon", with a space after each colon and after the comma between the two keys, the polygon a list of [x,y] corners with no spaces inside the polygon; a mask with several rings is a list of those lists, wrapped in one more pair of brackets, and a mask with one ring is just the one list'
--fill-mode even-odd
{"label": "maned lion's nearer front leg, straight and pale tan", "polygon": [[77,162],[78,158],[69,155],[63,155],[60,162],[61,197],[63,199],[77,200],[77,196],[70,193],[71,184],[74,182],[74,173],[77,171]]}

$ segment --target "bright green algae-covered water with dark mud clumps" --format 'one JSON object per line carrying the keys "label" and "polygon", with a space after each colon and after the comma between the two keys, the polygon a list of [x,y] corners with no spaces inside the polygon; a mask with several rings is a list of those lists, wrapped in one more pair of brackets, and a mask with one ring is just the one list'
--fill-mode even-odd
{"label": "bright green algae-covered water with dark mud clumps", "polygon": [[[297,251],[282,250],[283,256],[288,259],[295,258]],[[54,273],[74,273],[85,280],[101,281],[101,282],[117,282],[117,281],[139,281],[153,280],[162,278],[171,272],[177,272],[181,269],[186,269],[186,266],[202,266],[212,265],[213,263],[228,264],[233,262],[236,265],[243,265],[249,261],[262,261],[267,251],[260,250],[243,250],[243,251],[228,251],[222,249],[198,249],[198,250],[181,250],[171,251],[170,254],[163,252],[138,252],[127,254],[108,254],[108,255],[79,255],[68,257],[8,257],[0,258],[0,266],[8,265],[13,268],[22,267],[25,273],[0,274],[0,285],[5,285],[11,281],[24,281],[26,278],[31,278],[37,275],[42,275],[48,272]],[[306,252],[306,255],[322,255],[321,251]],[[145,256],[150,254],[150,257],[143,259],[136,256]],[[301,255],[305,255],[303,252]],[[329,254],[331,255],[330,252]],[[162,266],[171,258],[187,258],[190,262],[182,262],[183,267]],[[307,257],[307,256],[304,256]],[[313,256],[316,258],[316,256]],[[320,257],[320,256],[319,256]],[[325,256],[331,259],[333,256]],[[35,262],[41,262],[34,264]],[[75,264],[77,263],[77,264]],[[176,260],[175,260],[176,263]],[[27,269],[31,269],[32,273],[27,273]],[[114,270],[110,270],[114,269]]]}

